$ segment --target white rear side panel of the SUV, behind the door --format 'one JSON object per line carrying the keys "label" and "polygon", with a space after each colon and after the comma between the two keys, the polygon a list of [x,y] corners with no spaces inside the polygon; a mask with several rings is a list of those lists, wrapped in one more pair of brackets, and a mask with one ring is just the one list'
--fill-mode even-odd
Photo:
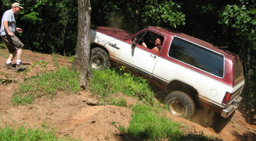
{"label": "white rear side panel of the SUV, behind the door", "polygon": [[[157,61],[153,75],[168,82],[173,80],[183,81],[196,88],[200,96],[219,104],[221,104],[226,91],[232,93],[244,85],[243,81],[238,86],[231,87],[163,58],[159,58]],[[215,90],[216,93],[213,93],[212,90]]]}

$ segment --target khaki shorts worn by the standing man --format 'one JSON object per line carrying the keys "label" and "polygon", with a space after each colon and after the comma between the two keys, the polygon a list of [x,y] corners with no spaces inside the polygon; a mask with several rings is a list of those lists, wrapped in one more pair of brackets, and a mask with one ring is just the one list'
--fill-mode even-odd
{"label": "khaki shorts worn by the standing man", "polygon": [[10,53],[13,53],[14,51],[17,51],[19,49],[22,49],[24,44],[19,40],[17,36],[9,36],[9,35],[3,35],[1,36],[4,44],[6,44],[7,49]]}

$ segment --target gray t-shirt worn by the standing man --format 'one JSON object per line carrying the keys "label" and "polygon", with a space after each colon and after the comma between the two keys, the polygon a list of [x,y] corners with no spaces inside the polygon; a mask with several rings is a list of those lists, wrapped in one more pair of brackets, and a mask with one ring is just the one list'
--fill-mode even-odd
{"label": "gray t-shirt worn by the standing man", "polygon": [[3,17],[2,17],[2,22],[1,22],[1,33],[0,35],[8,35],[8,33],[6,32],[6,30],[4,29],[3,26],[3,21],[7,20],[8,21],[8,25],[9,25],[9,29],[10,31],[15,34],[16,31],[16,20],[14,17],[14,12],[9,9],[8,11],[3,13]]}

